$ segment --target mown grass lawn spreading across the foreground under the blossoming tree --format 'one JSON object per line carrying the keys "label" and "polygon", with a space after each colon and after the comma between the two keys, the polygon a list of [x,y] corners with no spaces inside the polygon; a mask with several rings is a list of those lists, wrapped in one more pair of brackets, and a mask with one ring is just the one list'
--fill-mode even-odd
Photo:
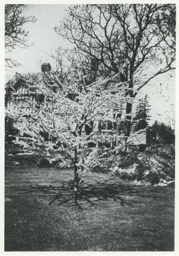
{"label": "mown grass lawn spreading across the foreground under the blossoming tree", "polygon": [[6,167],[5,251],[174,250],[174,186],[88,173],[79,207],[72,177],[72,170]]}

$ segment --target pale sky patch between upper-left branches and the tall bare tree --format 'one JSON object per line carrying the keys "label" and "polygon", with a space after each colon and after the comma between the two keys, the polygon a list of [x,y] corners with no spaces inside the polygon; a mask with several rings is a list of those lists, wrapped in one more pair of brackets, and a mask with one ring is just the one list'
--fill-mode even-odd
{"label": "pale sky patch between upper-left branches and the tall bare tree", "polygon": [[40,65],[48,61],[48,54],[54,52],[59,46],[70,47],[70,43],[56,34],[54,26],[58,25],[68,9],[68,5],[27,5],[23,15],[36,17],[35,23],[27,23],[25,28],[29,31],[29,48],[16,48],[11,58],[21,63],[21,67],[8,70],[12,76],[15,72],[40,72]]}

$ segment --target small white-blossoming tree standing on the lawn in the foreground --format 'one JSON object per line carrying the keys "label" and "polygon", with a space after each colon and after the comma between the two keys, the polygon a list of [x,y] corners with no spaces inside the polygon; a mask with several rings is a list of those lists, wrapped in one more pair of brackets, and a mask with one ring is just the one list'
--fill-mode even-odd
{"label": "small white-blossoming tree standing on the lawn in the foreground", "polygon": [[[76,200],[78,183],[88,170],[90,158],[94,157],[95,149],[89,152],[89,142],[103,143],[115,136],[100,133],[100,129],[97,133],[91,129],[89,134],[86,129],[91,123],[98,126],[103,121],[115,121],[112,109],[125,103],[127,90],[127,82],[117,80],[118,75],[115,75],[84,86],[74,79],[67,86],[57,77],[51,81],[36,81],[29,75],[26,99],[29,111],[15,102],[7,107],[7,115],[13,117],[15,127],[28,137],[25,141],[19,140],[24,149],[43,149],[57,158],[70,160],[74,168]],[[43,95],[43,101],[36,101],[37,94]],[[48,139],[44,133],[48,134]]]}

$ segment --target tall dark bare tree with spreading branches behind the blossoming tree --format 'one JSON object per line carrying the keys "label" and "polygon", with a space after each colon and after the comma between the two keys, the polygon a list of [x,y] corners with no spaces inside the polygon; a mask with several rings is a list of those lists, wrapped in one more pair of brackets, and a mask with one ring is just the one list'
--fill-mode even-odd
{"label": "tall dark bare tree with spreading branches behind the blossoming tree", "polygon": [[[55,27],[95,62],[101,76],[119,74],[121,82],[129,81],[128,123],[139,90],[152,78],[174,69],[175,8],[156,4],[74,5]],[[128,127],[127,135],[131,125]]]}

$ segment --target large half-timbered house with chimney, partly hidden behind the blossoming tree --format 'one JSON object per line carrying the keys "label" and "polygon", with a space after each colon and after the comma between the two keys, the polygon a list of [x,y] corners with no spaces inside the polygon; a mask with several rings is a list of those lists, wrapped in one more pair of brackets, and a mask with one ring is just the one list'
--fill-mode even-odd
{"label": "large half-timbered house with chimney, partly hidden behind the blossoming tree", "polygon": [[[23,109],[25,115],[30,113],[30,105],[28,99],[32,99],[36,105],[44,102],[44,94],[40,88],[40,83],[43,81],[46,83],[46,86],[50,86],[53,92],[56,92],[56,82],[52,82],[52,79],[49,80],[46,74],[50,74],[50,64],[42,64],[42,72],[30,75],[18,75],[13,78],[13,81],[9,81],[6,87],[6,96],[5,104],[9,107],[15,107],[17,109]],[[13,82],[13,86],[12,86]],[[111,142],[108,143],[111,145],[113,141],[116,143],[121,143],[125,140],[125,133],[127,129],[127,121],[125,120],[126,114],[126,102],[119,101],[119,104],[114,105],[111,108],[109,115],[111,116],[111,121],[94,121],[89,125],[86,125],[84,132],[88,135],[93,131],[93,133],[109,133],[111,134]],[[21,133],[21,131],[20,131]],[[44,135],[46,140],[48,140],[48,134]],[[95,138],[91,138],[91,143],[93,143]],[[142,133],[140,136],[133,135],[131,137],[131,143],[145,143],[146,136]]]}

